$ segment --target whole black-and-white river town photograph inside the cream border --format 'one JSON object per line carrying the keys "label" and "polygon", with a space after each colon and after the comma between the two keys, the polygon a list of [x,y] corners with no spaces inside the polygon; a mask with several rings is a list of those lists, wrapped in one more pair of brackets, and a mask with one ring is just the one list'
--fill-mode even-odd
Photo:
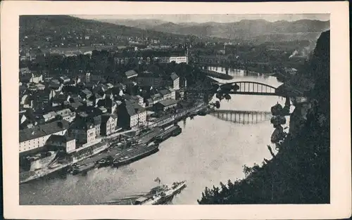
{"label": "whole black-and-white river town photograph inside the cream border", "polygon": [[20,16],[21,204],[290,203],[319,177],[329,20],[160,18]]}

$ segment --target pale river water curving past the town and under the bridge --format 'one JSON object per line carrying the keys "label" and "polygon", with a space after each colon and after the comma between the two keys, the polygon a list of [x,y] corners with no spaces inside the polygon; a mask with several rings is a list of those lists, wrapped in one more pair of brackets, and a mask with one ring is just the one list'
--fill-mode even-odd
{"label": "pale river water curving past the town and under the bridge", "polygon": [[[217,71],[225,72],[220,67]],[[275,77],[245,75],[243,71],[229,74],[234,79],[218,80],[281,84]],[[232,95],[230,101],[221,101],[220,110],[269,112],[277,102],[284,104],[276,96]],[[240,117],[240,113],[234,117]],[[50,176],[20,185],[20,205],[113,204],[146,193],[156,186],[156,177],[165,183],[187,180],[187,188],[175,196],[172,204],[196,205],[206,186],[241,179],[244,164],[252,166],[271,158],[267,148],[274,131],[270,115],[255,123],[250,118],[244,117],[243,122],[230,122],[216,115],[187,119],[180,122],[182,134],[161,143],[158,153],[125,167],[94,169],[86,176]]]}

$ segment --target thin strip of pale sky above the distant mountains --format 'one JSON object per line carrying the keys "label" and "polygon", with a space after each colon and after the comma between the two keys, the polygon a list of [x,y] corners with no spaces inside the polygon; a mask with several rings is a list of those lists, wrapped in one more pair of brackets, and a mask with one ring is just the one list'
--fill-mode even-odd
{"label": "thin strip of pale sky above the distant mountains", "polygon": [[272,15],[75,15],[85,19],[158,19],[167,22],[237,22],[243,19],[277,20],[329,20],[329,14],[272,14]]}

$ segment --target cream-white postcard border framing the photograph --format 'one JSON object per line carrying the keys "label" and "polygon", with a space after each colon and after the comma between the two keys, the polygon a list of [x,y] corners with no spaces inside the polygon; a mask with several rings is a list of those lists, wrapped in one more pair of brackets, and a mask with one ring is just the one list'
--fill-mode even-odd
{"label": "cream-white postcard border framing the photograph", "polygon": [[[265,14],[330,13],[331,204],[24,206],[18,187],[18,16],[40,14]],[[351,216],[351,137],[348,1],[270,3],[166,3],[2,1],[1,93],[6,219],[336,219]]]}

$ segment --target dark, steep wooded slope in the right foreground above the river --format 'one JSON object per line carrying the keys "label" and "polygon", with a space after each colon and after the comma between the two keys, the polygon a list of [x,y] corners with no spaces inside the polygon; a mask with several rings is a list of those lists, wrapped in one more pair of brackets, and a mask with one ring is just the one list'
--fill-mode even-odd
{"label": "dark, steep wooded slope in the right foreground above the river", "polygon": [[329,40],[329,31],[323,32],[313,57],[296,76],[305,75],[315,86],[308,93],[310,105],[296,105],[292,112],[277,155],[261,167],[244,167],[243,180],[206,188],[199,204],[329,203]]}

